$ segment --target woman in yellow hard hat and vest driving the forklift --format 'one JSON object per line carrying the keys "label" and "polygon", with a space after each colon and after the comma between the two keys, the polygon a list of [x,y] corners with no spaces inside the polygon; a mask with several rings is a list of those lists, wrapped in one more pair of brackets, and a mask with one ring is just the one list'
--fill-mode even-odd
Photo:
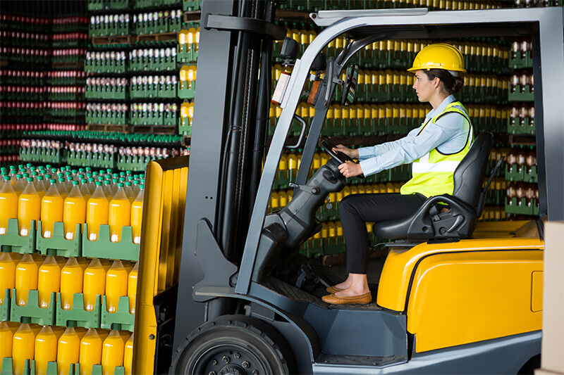
{"label": "woman in yellow hard hat and vest driving the forklift", "polygon": [[462,89],[466,72],[462,53],[450,44],[431,44],[417,53],[412,68],[415,72],[415,94],[433,109],[423,124],[398,141],[358,149],[338,145],[341,151],[360,163],[339,165],[345,177],[374,174],[382,170],[412,163],[412,179],[400,193],[354,194],[346,196],[339,208],[345,243],[348,278],[327,288],[326,303],[336,305],[370,303],[372,294],[367,281],[369,247],[365,222],[381,222],[407,217],[416,212],[429,196],[454,190],[453,173],[464,158],[473,134],[470,117],[453,94]]}

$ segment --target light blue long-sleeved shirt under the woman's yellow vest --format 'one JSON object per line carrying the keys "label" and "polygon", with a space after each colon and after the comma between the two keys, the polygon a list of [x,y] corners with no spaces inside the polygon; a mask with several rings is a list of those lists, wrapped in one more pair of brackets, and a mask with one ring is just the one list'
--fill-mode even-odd
{"label": "light blue long-sleeved shirt under the woman's yellow vest", "polygon": [[468,130],[464,129],[463,126],[465,119],[460,114],[446,113],[446,115],[439,117],[436,122],[429,122],[421,130],[425,122],[443,112],[446,106],[453,101],[456,101],[453,95],[445,98],[438,108],[427,113],[420,127],[413,129],[402,139],[359,148],[360,167],[364,176],[389,170],[398,165],[412,163],[434,148],[447,154],[460,151],[465,146],[468,136]]}

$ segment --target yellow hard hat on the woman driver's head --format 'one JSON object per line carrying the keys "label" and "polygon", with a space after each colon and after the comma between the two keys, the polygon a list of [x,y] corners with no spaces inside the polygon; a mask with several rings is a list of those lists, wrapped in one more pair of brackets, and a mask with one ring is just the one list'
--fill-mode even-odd
{"label": "yellow hard hat on the woman driver's head", "polygon": [[446,43],[436,43],[426,46],[417,53],[413,66],[408,72],[421,69],[446,69],[465,73],[464,56],[455,46]]}

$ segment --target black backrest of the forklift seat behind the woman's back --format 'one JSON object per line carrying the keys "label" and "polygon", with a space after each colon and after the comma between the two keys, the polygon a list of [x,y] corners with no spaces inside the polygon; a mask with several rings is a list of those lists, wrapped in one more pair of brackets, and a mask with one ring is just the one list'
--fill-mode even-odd
{"label": "black backrest of the forklift seat behind the woman's back", "polygon": [[493,134],[490,132],[478,134],[474,144],[454,171],[453,196],[472,205],[474,209],[477,208],[484,183],[492,142]]}

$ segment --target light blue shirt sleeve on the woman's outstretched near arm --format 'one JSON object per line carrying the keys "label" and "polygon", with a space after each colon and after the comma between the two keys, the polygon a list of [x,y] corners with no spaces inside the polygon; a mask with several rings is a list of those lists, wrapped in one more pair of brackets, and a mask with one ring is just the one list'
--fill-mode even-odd
{"label": "light blue shirt sleeve on the woman's outstretched near arm", "polygon": [[414,129],[402,139],[374,147],[359,148],[362,173],[369,176],[398,165],[412,163],[433,148],[459,135],[463,125],[464,117],[460,114],[446,113],[436,122],[429,123],[422,130],[421,127]]}

